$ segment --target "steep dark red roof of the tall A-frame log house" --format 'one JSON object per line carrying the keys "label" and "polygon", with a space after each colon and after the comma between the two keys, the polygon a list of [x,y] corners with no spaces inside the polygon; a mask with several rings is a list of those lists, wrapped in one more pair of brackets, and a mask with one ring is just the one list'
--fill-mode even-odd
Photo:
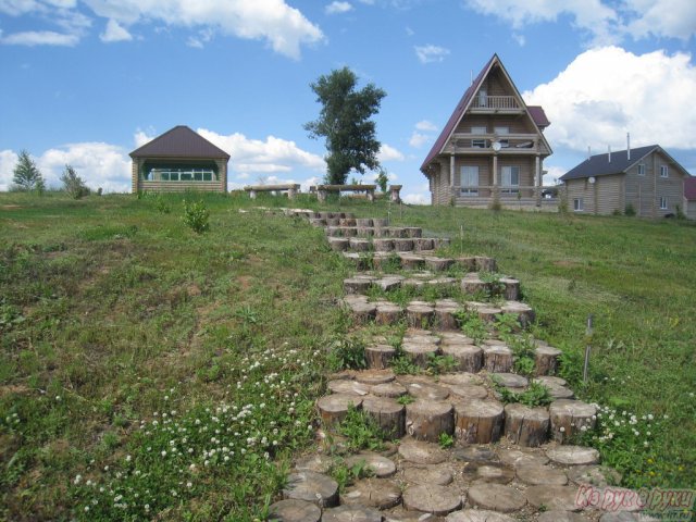
{"label": "steep dark red roof of the tall A-frame log house", "polygon": [[449,120],[445,124],[443,132],[439,134],[439,136],[435,140],[435,144],[433,144],[433,148],[427,153],[425,161],[421,165],[421,172],[423,172],[424,174],[426,174],[426,167],[430,164],[430,162],[433,161],[437,154],[442,153],[443,148],[447,144],[447,140],[449,140],[450,136],[457,128],[457,125],[459,125],[459,122],[461,121],[467,110],[471,105],[471,101],[473,100],[474,95],[478,92],[481,85],[483,84],[484,79],[486,79],[486,77],[493,70],[494,65],[498,65],[502,71],[502,73],[505,74],[505,76],[508,78],[508,80],[510,82],[510,85],[512,86],[512,89],[514,90],[514,94],[522,101],[523,105],[526,108],[527,114],[532,119],[532,123],[535,125],[536,129],[542,136],[542,139],[548,147],[548,150],[549,151],[551,150],[551,147],[548,145],[548,142],[546,141],[546,138],[542,134],[542,128],[550,125],[550,122],[548,121],[548,117],[546,117],[546,113],[544,112],[544,109],[542,109],[538,105],[529,107],[524,103],[524,100],[522,99],[520,91],[515,87],[514,82],[512,82],[512,78],[510,78],[510,75],[508,74],[505,66],[502,65],[502,62],[498,58],[498,54],[494,54],[490,58],[490,60],[488,60],[488,63],[486,63],[484,67],[481,70],[481,72],[478,73],[478,76],[474,78],[473,83],[464,91],[464,95],[461,97],[461,100],[459,100],[457,108],[455,109],[452,114],[449,116]]}

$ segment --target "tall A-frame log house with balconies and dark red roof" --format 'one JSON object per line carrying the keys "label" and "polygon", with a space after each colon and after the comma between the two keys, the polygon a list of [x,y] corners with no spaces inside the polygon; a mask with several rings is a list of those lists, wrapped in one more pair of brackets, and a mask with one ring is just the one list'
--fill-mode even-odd
{"label": "tall A-frame log house with balconies and dark red roof", "polygon": [[421,172],[433,204],[542,204],[551,148],[540,107],[527,107],[497,54],[455,108]]}

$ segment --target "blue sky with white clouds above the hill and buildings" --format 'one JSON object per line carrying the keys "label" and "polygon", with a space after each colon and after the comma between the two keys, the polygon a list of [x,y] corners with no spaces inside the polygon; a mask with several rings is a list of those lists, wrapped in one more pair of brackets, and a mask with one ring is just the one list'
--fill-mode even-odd
{"label": "blue sky with white clouds above the hill and buildings", "polygon": [[310,84],[348,66],[387,92],[381,162],[426,203],[420,166],[494,53],[551,121],[546,184],[626,133],[696,175],[695,34],[694,0],[0,0],[0,190],[27,150],[49,186],[70,164],[128,191],[128,153],[175,125],[232,156],[231,189],[307,189]]}

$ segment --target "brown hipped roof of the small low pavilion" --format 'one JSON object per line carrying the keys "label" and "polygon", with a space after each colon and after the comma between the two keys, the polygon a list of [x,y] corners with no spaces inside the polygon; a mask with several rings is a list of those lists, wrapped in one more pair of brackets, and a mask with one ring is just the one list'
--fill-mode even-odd
{"label": "brown hipped roof of the small low pavilion", "polygon": [[223,158],[229,154],[186,125],[177,125],[130,152],[130,158]]}

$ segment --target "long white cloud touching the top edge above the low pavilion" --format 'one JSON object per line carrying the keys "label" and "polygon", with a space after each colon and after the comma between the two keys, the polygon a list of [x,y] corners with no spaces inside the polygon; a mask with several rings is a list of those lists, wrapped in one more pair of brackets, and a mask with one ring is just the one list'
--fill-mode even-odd
{"label": "long white cloud touching the top edge above the low pavilion", "polygon": [[289,58],[300,58],[300,47],[322,41],[324,35],[284,0],[86,0],[99,16],[122,25],[140,21],[163,22],[176,27],[207,27],[244,39],[265,40]]}

